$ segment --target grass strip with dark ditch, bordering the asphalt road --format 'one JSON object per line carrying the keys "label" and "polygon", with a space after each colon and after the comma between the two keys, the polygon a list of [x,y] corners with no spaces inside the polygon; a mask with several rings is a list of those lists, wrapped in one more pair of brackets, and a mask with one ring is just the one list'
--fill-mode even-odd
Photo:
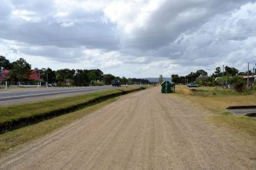
{"label": "grass strip with dark ditch, bordering the asphalt road", "polygon": [[114,88],[98,92],[62,97],[37,103],[0,107],[0,133],[13,129],[29,126],[55,116],[83,109],[85,106],[98,103],[112,97],[117,97],[129,92],[135,92],[142,88]]}

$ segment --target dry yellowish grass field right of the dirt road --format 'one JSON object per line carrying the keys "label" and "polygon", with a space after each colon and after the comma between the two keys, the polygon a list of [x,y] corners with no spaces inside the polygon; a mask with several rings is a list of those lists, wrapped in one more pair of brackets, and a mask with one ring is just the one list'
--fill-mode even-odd
{"label": "dry yellowish grass field right of the dirt road", "polygon": [[175,90],[176,95],[190,99],[193,103],[198,103],[201,107],[214,112],[215,114],[209,118],[211,122],[256,137],[256,118],[235,115],[226,110],[230,106],[256,105],[255,90],[236,92],[221,87],[200,87],[193,90],[186,86],[177,86]]}

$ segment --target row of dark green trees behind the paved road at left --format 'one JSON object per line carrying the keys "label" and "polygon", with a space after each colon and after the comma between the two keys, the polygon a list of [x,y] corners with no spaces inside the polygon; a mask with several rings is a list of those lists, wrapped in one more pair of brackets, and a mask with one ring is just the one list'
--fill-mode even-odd
{"label": "row of dark green trees behind the paved road at left", "polygon": [[[0,73],[3,70],[10,71],[8,82],[31,81],[32,66],[26,59],[20,58],[10,62],[4,56],[0,56]],[[110,85],[113,80],[119,80],[121,84],[149,84],[150,82],[142,78],[126,78],[111,74],[104,74],[100,69],[58,69],[42,68],[35,70],[40,72],[41,80],[48,84],[57,86],[89,86],[89,85]]]}

